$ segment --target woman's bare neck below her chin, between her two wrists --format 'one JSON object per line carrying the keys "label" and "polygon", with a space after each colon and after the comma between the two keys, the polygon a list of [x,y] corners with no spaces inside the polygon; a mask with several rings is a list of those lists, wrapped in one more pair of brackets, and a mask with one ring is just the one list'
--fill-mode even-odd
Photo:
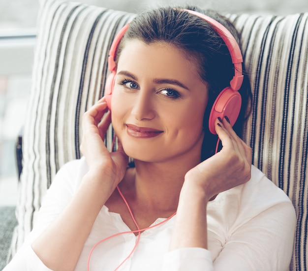
{"label": "woman's bare neck below her chin, between her two wrists", "polygon": [[145,213],[168,217],[178,207],[185,174],[200,163],[203,136],[186,153],[159,162],[135,159],[135,168],[128,169],[120,189],[125,198]]}

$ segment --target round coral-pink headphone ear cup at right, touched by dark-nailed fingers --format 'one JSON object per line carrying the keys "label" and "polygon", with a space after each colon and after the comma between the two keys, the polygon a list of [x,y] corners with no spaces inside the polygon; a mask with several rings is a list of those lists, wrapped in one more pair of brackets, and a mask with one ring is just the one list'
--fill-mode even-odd
{"label": "round coral-pink headphone ear cup at right, touched by dark-nailed fingers", "polygon": [[223,119],[227,116],[231,126],[233,126],[240,114],[241,105],[242,97],[238,91],[234,91],[230,87],[223,89],[219,93],[211,109],[209,117],[210,132],[216,135],[215,121],[218,117]]}

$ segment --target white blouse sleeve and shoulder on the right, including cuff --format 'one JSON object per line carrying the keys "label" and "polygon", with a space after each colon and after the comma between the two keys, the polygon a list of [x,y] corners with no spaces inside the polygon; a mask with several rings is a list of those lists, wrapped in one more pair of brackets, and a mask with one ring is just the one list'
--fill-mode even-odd
{"label": "white blouse sleeve and shoulder on the right, including cuff", "polygon": [[170,251],[163,271],[289,270],[296,228],[294,207],[261,171],[253,168],[252,173],[254,178],[246,185],[208,205],[209,250]]}

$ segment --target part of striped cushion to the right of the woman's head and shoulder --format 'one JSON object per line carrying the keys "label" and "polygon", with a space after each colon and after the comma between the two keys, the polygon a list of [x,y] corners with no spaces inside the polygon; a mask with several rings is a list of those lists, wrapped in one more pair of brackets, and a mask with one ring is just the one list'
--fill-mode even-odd
{"label": "part of striped cushion to the right of the woman's head and shoulder", "polygon": [[254,96],[243,137],[253,149],[253,164],[294,204],[290,270],[308,270],[308,13],[229,17],[242,35]]}

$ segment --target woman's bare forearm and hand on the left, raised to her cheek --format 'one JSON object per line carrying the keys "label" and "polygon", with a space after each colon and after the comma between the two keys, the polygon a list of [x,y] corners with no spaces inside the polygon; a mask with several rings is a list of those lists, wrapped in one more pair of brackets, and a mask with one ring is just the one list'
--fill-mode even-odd
{"label": "woman's bare forearm and hand on the left, raised to her cheek", "polygon": [[62,213],[32,243],[35,254],[52,270],[74,270],[98,212],[125,173],[122,146],[110,154],[102,140],[111,121],[106,111],[106,102],[99,101],[85,113],[81,150],[89,171]]}

